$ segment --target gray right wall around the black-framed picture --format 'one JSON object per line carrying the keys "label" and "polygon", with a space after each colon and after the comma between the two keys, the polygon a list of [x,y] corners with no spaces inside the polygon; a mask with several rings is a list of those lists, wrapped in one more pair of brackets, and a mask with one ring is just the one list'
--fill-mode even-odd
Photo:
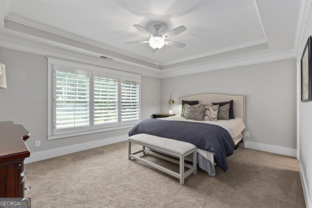
{"label": "gray right wall around the black-framed picture", "polygon": [[[301,42],[301,52],[306,45],[308,37],[312,35],[312,7],[310,9],[310,15],[308,17],[307,26]],[[300,56],[301,58],[301,56]],[[300,61],[300,60],[298,60]],[[300,63],[300,62],[299,62]],[[298,70],[300,70],[300,64],[298,64]],[[298,91],[301,93],[299,87]],[[303,169],[303,177],[307,182],[307,188],[309,191],[310,202],[312,202],[312,102],[299,103],[299,151],[300,151],[300,163]],[[307,177],[308,170],[308,178]],[[308,180],[309,179],[309,180]],[[311,206],[311,205],[310,205]]]}

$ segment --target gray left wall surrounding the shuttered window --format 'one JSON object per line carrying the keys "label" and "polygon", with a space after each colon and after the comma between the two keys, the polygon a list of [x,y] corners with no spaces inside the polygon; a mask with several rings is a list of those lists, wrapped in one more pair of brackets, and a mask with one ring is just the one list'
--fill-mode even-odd
{"label": "gray left wall surrounding the shuttered window", "polygon": [[[0,47],[6,66],[7,89],[0,89],[0,121],[22,124],[31,137],[31,152],[126,135],[128,129],[47,140],[47,58]],[[151,87],[150,87],[151,86]],[[141,77],[141,118],[150,118],[160,108],[160,79]],[[35,140],[41,147],[35,148]]]}

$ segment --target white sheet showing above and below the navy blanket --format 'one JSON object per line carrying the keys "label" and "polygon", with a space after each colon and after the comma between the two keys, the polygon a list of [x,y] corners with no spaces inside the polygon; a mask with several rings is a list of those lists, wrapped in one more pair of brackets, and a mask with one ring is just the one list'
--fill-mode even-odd
{"label": "white sheet showing above and below the navy blanket", "polygon": [[[235,119],[226,120],[219,120],[219,121],[194,121],[194,120],[187,120],[180,115],[170,116],[167,118],[158,118],[161,120],[170,120],[170,121],[190,121],[190,122],[200,122],[200,123],[210,123],[221,126],[225,128],[231,135],[235,145],[243,138],[242,131],[246,128],[244,122],[240,119],[235,117]],[[210,176],[215,176],[215,156],[212,152],[202,150],[197,148],[197,161],[198,166],[206,171]],[[191,158],[190,158],[191,159]]]}

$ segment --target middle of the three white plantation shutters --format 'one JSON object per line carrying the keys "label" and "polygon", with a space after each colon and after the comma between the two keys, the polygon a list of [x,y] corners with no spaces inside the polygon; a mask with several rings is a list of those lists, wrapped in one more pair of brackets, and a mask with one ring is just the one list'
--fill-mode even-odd
{"label": "middle of the three white plantation shutters", "polygon": [[94,76],[94,125],[118,124],[118,79]]}

